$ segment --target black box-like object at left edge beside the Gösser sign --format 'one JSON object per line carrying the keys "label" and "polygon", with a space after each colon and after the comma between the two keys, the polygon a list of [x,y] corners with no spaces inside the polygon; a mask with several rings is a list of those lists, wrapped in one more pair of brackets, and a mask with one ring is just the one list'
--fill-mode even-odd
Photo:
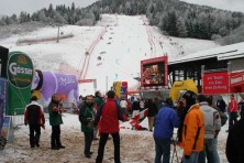
{"label": "black box-like object at left edge beside the G\u00f6sser sign", "polygon": [[8,64],[9,48],[0,46],[0,77],[7,78],[7,64]]}

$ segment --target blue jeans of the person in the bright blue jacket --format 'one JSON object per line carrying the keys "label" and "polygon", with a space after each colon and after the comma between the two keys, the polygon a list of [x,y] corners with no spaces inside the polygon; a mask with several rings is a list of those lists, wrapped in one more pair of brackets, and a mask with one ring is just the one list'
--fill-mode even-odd
{"label": "blue jeans of the person in the bright blue jacket", "polygon": [[170,157],[170,139],[157,139],[154,138],[155,146],[156,146],[156,156],[155,163],[169,163]]}

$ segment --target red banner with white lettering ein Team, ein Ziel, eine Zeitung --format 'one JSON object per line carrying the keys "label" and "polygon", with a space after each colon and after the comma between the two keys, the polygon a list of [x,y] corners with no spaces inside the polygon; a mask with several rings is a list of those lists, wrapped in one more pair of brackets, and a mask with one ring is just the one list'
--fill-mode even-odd
{"label": "red banner with white lettering ein Team, ein Ziel, eine Zeitung", "polygon": [[229,82],[230,79],[228,72],[204,73],[202,94],[211,94],[211,95],[229,94],[230,93]]}

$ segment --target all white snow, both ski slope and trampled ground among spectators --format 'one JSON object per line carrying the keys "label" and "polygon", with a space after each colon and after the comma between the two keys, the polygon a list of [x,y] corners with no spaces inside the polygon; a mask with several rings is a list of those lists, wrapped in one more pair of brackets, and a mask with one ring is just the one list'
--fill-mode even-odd
{"label": "all white snow, both ski slope and trampled ground among spectators", "polygon": [[[65,25],[60,26],[60,31],[64,34],[73,33],[74,37],[60,40],[59,43],[48,41],[32,45],[16,45],[20,39],[55,37],[57,28],[48,26],[1,39],[0,45],[10,51],[22,51],[29,54],[36,69],[60,72],[60,67],[63,67],[66,73],[74,73],[82,79],[97,79],[97,89],[103,93],[107,88],[106,76],[108,76],[109,87],[115,80],[126,80],[129,87],[137,86],[138,83],[133,77],[140,75],[140,61],[142,59],[167,54],[171,62],[198,51],[219,46],[211,41],[163,35],[157,28],[148,25],[145,15],[103,14],[96,26]],[[98,56],[101,57],[101,61],[98,59]],[[93,95],[93,91],[92,84],[80,85],[81,95]],[[63,119],[62,141],[66,145],[65,150],[49,150],[52,131],[47,120],[46,130],[42,130],[40,149],[31,150],[29,128],[20,126],[14,133],[14,143],[8,143],[0,155],[0,162],[95,162],[98,141],[92,143],[91,149],[95,152],[92,159],[84,157],[85,142],[78,117],[64,113]],[[142,126],[147,128],[147,119],[142,122]],[[122,162],[152,163],[155,155],[153,133],[130,128],[129,122],[121,124]],[[219,137],[221,162],[226,162],[225,129],[226,127],[221,130]],[[181,152],[178,148],[177,151]],[[108,141],[104,154],[104,163],[110,162],[113,162],[112,141]]]}

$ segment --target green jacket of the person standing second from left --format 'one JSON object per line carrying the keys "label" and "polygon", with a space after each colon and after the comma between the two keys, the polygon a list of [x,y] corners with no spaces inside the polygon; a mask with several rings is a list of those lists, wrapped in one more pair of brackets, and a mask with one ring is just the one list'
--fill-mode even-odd
{"label": "green jacket of the person standing second from left", "polygon": [[55,110],[55,107],[58,108],[58,104],[51,101],[48,106],[48,112],[49,112],[49,124],[52,127],[63,124],[62,115],[59,113],[59,111]]}

